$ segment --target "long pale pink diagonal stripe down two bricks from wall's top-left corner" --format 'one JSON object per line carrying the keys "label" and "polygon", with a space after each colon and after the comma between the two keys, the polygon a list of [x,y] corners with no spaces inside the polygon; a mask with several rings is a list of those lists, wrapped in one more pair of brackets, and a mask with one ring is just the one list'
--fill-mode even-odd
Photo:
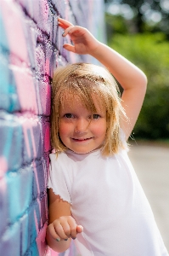
{"label": "long pale pink diagonal stripe down two bricks from wall's top-left corner", "polygon": [[[24,17],[13,1],[1,1],[1,9],[3,14],[3,23],[7,32],[9,49],[11,52],[11,63],[18,66],[18,61],[14,59],[14,55],[21,61],[29,65],[27,46],[25,42],[25,33],[23,24]],[[17,28],[17,29],[14,29]],[[23,63],[22,63],[23,64]],[[20,63],[20,65],[22,65]],[[37,113],[37,98],[34,87],[32,74],[28,74],[28,70],[23,67],[13,66],[14,77],[17,84],[18,95],[20,99],[20,107],[22,110],[29,110]]]}

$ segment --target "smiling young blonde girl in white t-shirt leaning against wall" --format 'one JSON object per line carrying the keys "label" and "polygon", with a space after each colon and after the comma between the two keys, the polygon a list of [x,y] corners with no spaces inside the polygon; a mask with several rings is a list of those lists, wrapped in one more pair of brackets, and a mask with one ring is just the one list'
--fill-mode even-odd
{"label": "smiling young blonde girl in white t-shirt leaning against wall", "polygon": [[63,19],[59,26],[73,42],[65,49],[93,55],[107,69],[76,63],[54,73],[48,245],[64,252],[73,239],[82,256],[166,256],[127,157],[147,79],[87,29]]}

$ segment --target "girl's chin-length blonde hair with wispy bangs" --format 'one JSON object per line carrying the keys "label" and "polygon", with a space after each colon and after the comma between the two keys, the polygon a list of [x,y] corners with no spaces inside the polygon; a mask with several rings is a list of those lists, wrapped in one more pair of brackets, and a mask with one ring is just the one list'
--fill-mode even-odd
{"label": "girl's chin-length blonde hair with wispy bangs", "polygon": [[108,156],[124,148],[120,135],[120,116],[126,117],[121,107],[120,91],[115,79],[104,67],[76,63],[59,67],[54,72],[52,85],[51,142],[59,152],[67,148],[59,138],[59,108],[65,101],[78,96],[84,106],[94,113],[92,95],[98,96],[99,105],[106,112],[107,131],[102,154]]}

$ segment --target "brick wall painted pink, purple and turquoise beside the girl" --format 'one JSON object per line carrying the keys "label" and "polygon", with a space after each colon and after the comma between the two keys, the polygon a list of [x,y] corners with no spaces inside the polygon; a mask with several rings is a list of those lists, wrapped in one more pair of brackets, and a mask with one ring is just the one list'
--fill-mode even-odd
{"label": "brick wall painted pink, purple and turquoise beside the girl", "polygon": [[[0,0],[0,255],[58,255],[45,243],[51,79],[66,62],[57,17],[102,40],[103,0]],[[103,40],[102,40],[103,41]],[[75,248],[70,253],[76,255]]]}

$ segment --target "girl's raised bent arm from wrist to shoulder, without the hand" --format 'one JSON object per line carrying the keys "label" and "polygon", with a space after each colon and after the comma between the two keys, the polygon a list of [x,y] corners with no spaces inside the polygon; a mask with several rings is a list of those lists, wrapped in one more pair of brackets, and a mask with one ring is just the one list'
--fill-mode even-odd
{"label": "girl's raised bent arm from wrist to shoulder, without the hand", "polygon": [[128,120],[121,119],[121,128],[127,139],[132,133],[144,102],[147,78],[132,62],[105,44],[100,43],[92,55],[109,69],[123,88],[121,105],[125,109]]}

